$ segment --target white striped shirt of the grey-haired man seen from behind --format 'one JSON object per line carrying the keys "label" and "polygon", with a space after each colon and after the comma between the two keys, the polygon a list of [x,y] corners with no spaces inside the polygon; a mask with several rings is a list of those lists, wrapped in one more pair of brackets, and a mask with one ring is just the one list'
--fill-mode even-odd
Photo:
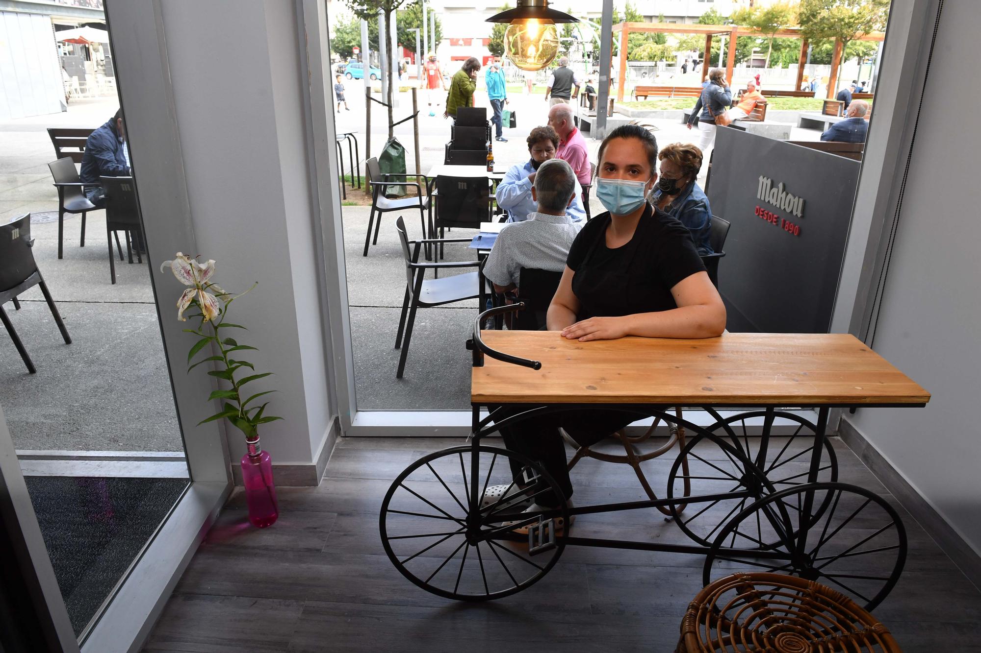
{"label": "white striped shirt of the grey-haired man seen from behind", "polygon": [[506,286],[518,284],[522,268],[562,272],[582,226],[569,216],[543,213],[530,213],[528,220],[504,226],[490,249],[484,276]]}

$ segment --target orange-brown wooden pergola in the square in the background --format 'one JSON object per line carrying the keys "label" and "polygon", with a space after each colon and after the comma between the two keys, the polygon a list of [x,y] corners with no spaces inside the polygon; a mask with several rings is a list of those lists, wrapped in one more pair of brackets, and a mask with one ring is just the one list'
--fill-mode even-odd
{"label": "orange-brown wooden pergola in the square in the background", "polygon": [[[631,32],[654,32],[654,33],[675,33],[675,34],[704,34],[705,36],[705,61],[708,61],[709,53],[712,51],[712,37],[723,35],[729,37],[729,56],[726,59],[726,82],[732,84],[733,69],[736,66],[736,39],[739,36],[759,36],[761,32],[752,27],[740,25],[686,25],[679,23],[620,23],[613,25],[613,31],[620,32],[620,66],[617,73],[617,102],[623,102],[624,83],[627,80],[627,37]],[[807,61],[807,39],[800,36],[800,27],[788,27],[780,29],[774,34],[777,38],[800,38],[800,65],[798,66],[797,83],[794,89],[800,88],[800,81],[803,78],[804,62]],[[882,41],[886,34],[881,31],[870,32],[857,36],[857,41]],[[842,56],[842,39],[835,39],[835,52],[831,57],[831,75],[828,77],[828,97],[835,97],[835,88],[838,81],[838,61]],[[701,67],[701,80],[708,77],[708,66]]]}

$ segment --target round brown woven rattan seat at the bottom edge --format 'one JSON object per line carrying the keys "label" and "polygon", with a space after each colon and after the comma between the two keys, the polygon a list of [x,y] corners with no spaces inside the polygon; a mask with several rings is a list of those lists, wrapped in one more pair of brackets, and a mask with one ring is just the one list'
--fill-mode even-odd
{"label": "round brown woven rattan seat at the bottom edge", "polygon": [[734,574],[689,604],[675,653],[900,650],[888,628],[835,589],[796,576]]}

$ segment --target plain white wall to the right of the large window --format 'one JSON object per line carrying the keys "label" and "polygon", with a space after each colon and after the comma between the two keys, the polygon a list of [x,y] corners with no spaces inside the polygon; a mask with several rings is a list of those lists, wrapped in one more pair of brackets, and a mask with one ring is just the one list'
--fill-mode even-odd
{"label": "plain white wall to the right of the large window", "polygon": [[979,21],[975,3],[944,5],[873,342],[933,397],[846,419],[981,554],[981,132],[951,114],[981,104],[964,83]]}

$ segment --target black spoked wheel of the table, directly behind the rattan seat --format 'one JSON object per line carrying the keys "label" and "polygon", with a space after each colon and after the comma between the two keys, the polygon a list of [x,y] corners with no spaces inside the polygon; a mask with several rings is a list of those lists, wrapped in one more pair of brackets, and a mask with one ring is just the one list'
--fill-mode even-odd
{"label": "black spoked wheel of the table, directly behind the rattan seat", "polygon": [[764,497],[722,527],[702,581],[736,572],[789,574],[871,610],[893,589],[905,560],[906,531],[885,499],[848,483],[805,483]]}

